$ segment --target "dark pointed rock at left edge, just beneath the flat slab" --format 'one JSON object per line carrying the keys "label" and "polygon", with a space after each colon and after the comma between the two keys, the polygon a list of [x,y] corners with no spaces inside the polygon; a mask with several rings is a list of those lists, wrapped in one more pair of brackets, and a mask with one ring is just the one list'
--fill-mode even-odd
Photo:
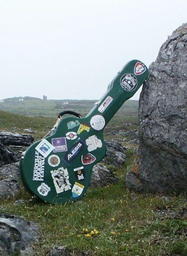
{"label": "dark pointed rock at left edge, just beneath the flat slab", "polygon": [[17,162],[19,154],[13,152],[9,147],[4,146],[0,141],[0,167]]}

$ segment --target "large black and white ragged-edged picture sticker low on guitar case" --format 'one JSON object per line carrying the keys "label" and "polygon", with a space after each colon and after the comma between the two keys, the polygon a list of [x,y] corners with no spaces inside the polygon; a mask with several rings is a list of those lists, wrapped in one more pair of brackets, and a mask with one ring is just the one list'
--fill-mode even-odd
{"label": "large black and white ragged-edged picture sticker low on guitar case", "polygon": [[58,168],[57,170],[51,171],[53,182],[56,188],[56,193],[62,193],[71,189],[71,184],[69,183],[69,174],[67,169],[63,167]]}

